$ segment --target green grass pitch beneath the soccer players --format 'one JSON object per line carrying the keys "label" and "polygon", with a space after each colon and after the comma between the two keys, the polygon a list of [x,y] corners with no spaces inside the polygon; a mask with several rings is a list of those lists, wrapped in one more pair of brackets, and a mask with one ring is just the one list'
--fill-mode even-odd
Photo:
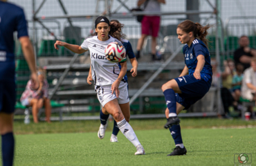
{"label": "green grass pitch beneath the soccer players", "polygon": [[[110,142],[107,131],[17,135],[15,165],[234,165],[234,154],[252,154],[256,164],[256,129],[182,129],[186,156],[166,156],[174,148],[169,130],[139,130],[145,156],[134,156],[136,148],[122,133]],[[237,164],[238,166],[238,164]]]}

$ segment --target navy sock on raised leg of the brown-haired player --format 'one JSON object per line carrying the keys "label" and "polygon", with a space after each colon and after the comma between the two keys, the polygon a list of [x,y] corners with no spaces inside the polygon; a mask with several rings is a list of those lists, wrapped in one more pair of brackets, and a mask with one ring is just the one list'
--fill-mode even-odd
{"label": "navy sock on raised leg of the brown-haired player", "polygon": [[169,109],[169,113],[176,113],[176,95],[173,89],[166,89],[163,94],[165,95],[165,102]]}

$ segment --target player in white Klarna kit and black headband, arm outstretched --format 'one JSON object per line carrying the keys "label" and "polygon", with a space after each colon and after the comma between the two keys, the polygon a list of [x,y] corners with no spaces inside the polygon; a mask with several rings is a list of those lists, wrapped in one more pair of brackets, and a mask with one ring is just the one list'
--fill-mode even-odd
{"label": "player in white Klarna kit and black headband, arm outstretched", "polygon": [[129,109],[127,83],[123,81],[127,72],[127,62],[122,62],[120,70],[118,63],[109,62],[104,55],[104,49],[111,42],[121,44],[120,39],[111,37],[115,37],[114,33],[119,28],[115,25],[110,26],[109,19],[100,16],[95,20],[95,33],[97,35],[84,39],[81,46],[60,41],[56,41],[54,46],[56,49],[58,49],[57,46],[64,46],[78,54],[90,50],[91,74],[98,100],[102,107],[116,120],[120,131],[136,147],[135,155],[142,155],[145,154],[145,150],[122,113],[122,110],[127,112],[126,109]]}

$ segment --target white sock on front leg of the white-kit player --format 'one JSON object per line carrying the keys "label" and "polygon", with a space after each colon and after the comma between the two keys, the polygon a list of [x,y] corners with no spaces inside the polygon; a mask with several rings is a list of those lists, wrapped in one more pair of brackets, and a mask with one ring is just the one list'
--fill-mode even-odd
{"label": "white sock on front leg of the white-kit player", "polygon": [[140,145],[140,141],[138,141],[138,138],[136,134],[134,133],[134,129],[132,129],[131,125],[125,120],[121,120],[120,122],[117,122],[118,128],[122,132],[122,134],[125,135],[125,137],[135,146],[137,147]]}

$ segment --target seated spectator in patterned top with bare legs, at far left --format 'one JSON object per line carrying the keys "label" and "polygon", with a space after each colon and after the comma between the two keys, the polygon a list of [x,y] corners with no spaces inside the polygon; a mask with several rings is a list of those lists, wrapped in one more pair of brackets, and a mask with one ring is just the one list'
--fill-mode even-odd
{"label": "seated spectator in patterned top with bare legs, at far left", "polygon": [[45,107],[46,122],[50,121],[51,116],[51,102],[48,99],[48,82],[44,70],[39,69],[37,72],[38,80],[40,82],[39,89],[31,88],[31,80],[26,85],[26,90],[21,95],[21,104],[26,107],[32,107],[33,120],[38,122],[37,113],[43,106]]}

